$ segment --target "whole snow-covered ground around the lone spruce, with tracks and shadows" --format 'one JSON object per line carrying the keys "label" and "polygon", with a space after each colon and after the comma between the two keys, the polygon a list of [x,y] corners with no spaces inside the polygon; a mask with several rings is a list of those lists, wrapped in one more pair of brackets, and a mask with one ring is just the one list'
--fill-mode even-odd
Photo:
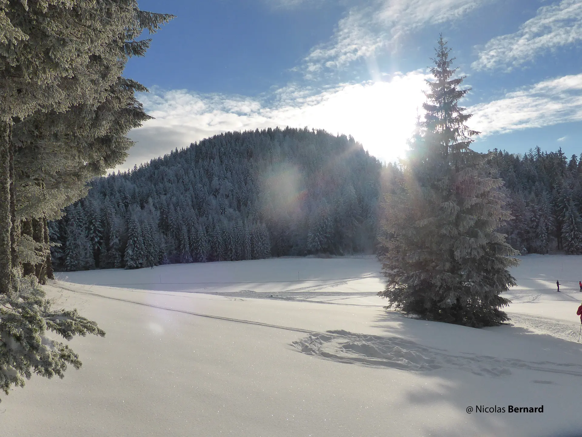
{"label": "whole snow-covered ground around the lone spruce, with tracks and shadows", "polygon": [[582,435],[582,256],[513,274],[513,326],[472,329],[385,311],[371,257],[60,273],[49,295],[107,336],[2,396],[0,435]]}

